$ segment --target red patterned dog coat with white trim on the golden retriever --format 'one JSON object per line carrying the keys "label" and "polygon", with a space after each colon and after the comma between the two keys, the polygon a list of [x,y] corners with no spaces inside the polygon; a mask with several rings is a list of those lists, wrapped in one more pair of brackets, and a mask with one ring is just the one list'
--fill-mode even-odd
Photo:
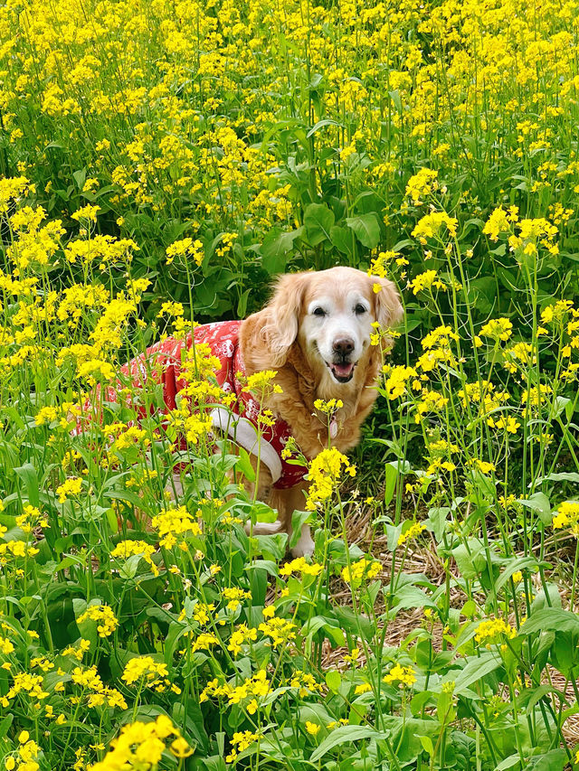
{"label": "red patterned dog coat with white trim on the golden retriever", "polygon": [[[243,385],[236,377],[237,372],[245,374],[239,347],[240,325],[240,321],[223,321],[195,327],[195,343],[207,343],[214,356],[221,362],[221,370],[215,372],[215,378],[223,393],[234,393],[236,396],[231,410],[213,410],[214,427],[227,433],[248,452],[255,456],[259,453],[261,462],[271,471],[273,486],[287,489],[302,481],[307,474],[307,468],[289,464],[281,457],[281,450],[291,435],[284,420],[278,418],[274,426],[262,428],[261,437],[258,436],[257,419],[260,405],[251,393],[242,390]],[[184,350],[191,348],[192,343],[191,334],[188,334],[185,340],[168,338],[149,346],[146,353],[125,364],[121,371],[131,377],[135,387],[142,388],[147,377],[151,374],[157,377],[156,372],[160,370],[166,409],[175,409],[176,394],[185,387],[185,381],[181,378],[182,354]]]}

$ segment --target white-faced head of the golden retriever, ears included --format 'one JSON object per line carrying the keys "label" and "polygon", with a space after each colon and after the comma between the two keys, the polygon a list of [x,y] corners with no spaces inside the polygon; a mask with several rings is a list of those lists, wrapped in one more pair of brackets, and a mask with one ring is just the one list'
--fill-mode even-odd
{"label": "white-faced head of the golden retriever, ears included", "polygon": [[[380,291],[374,291],[375,285]],[[272,365],[280,366],[298,340],[312,370],[340,385],[353,379],[356,365],[365,359],[372,324],[388,327],[403,313],[391,281],[355,268],[282,276],[265,310],[263,333]]]}

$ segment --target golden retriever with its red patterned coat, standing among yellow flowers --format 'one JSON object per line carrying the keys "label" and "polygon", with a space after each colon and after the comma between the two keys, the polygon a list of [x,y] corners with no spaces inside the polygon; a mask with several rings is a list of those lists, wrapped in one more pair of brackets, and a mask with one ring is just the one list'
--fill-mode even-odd
{"label": "golden retriever with its red patterned coat, standing among yellow flowers", "polygon": [[[293,512],[304,509],[307,467],[289,463],[283,448],[291,436],[311,461],[328,442],[341,453],[356,446],[376,399],[382,364],[381,346],[371,344],[373,324],[386,329],[402,315],[400,297],[386,278],[346,267],[287,274],[278,278],[270,302],[258,313],[244,321],[198,326],[185,340],[156,343],[122,371],[141,387],[151,372],[160,373],[166,409],[176,409],[177,394],[185,386],[184,351],[206,343],[221,362],[217,383],[230,404],[233,400],[233,407],[211,411],[214,431],[244,447],[255,466],[259,457],[254,492],[278,511],[277,522],[258,522],[251,531],[290,533]],[[276,371],[273,383],[280,388],[258,404],[243,383],[261,371]],[[343,405],[329,427],[327,416],[315,407],[320,399]],[[271,410],[275,422],[258,431],[264,409]],[[304,525],[292,554],[308,555],[313,549]]]}

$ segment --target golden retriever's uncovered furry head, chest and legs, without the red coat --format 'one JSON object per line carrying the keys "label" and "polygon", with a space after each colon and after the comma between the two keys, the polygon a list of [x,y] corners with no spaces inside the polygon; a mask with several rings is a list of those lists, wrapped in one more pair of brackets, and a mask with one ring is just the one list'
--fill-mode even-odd
{"label": "golden retriever's uncovered furry head, chest and legs, without the red coat", "polygon": [[[343,453],[356,446],[376,399],[382,363],[380,346],[370,344],[372,324],[385,329],[402,315],[391,281],[344,267],[281,276],[270,303],[242,322],[239,345],[245,373],[276,370],[281,388],[261,409],[271,409],[288,424],[309,460],[328,446],[327,418],[314,407],[318,399],[343,403],[330,424],[332,446]],[[279,519],[258,523],[253,532],[289,532],[292,513],[304,508],[308,482],[276,487],[264,463],[258,479],[258,497],[277,509]],[[309,554],[313,547],[304,526],[292,553]]]}

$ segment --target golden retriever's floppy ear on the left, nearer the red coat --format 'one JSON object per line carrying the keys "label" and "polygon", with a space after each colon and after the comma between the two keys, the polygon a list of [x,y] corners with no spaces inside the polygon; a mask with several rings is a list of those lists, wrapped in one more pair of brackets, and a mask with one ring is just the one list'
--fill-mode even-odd
{"label": "golden retriever's floppy ear on the left, nearer the red coat", "polygon": [[308,273],[287,273],[280,276],[270,302],[263,309],[263,338],[271,353],[271,362],[280,367],[288,358],[289,349],[299,332],[299,318]]}

